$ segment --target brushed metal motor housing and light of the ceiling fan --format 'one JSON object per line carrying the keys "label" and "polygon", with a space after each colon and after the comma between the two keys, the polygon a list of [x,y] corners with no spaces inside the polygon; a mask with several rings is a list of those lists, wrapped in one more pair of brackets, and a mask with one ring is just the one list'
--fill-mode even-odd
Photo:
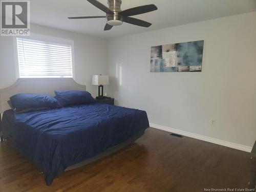
{"label": "brushed metal motor housing and light of the ceiling fan", "polygon": [[109,25],[112,26],[118,26],[123,23],[123,18],[121,15],[119,15],[119,12],[121,12],[121,0],[108,0],[109,8],[111,11],[113,11],[115,14],[106,14],[106,20]]}

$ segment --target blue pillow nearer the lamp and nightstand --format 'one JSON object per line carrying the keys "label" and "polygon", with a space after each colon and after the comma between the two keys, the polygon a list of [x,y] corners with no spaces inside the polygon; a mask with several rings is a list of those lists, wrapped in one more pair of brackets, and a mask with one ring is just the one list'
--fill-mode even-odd
{"label": "blue pillow nearer the lamp and nightstand", "polygon": [[86,104],[95,102],[87,91],[55,91],[56,99],[62,106]]}

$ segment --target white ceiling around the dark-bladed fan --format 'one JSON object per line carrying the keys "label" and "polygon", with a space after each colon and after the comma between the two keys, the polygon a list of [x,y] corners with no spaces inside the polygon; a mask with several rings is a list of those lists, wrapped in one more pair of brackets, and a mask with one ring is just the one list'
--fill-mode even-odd
{"label": "white ceiling around the dark-bladed fan", "polygon": [[[108,5],[107,0],[98,1]],[[155,4],[158,7],[157,11],[134,16],[153,25],[150,28],[142,28],[123,23],[110,31],[103,31],[105,18],[78,20],[67,18],[69,16],[105,15],[86,0],[33,0],[30,2],[31,23],[103,38],[256,11],[256,0],[122,0],[122,10]]]}

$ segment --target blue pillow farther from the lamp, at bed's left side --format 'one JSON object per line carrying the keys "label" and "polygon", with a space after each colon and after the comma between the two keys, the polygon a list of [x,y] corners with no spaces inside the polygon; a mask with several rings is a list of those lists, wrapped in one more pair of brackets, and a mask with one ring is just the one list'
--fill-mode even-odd
{"label": "blue pillow farther from the lamp, at bed's left side", "polygon": [[10,97],[12,107],[17,113],[61,108],[58,100],[44,94],[16,94]]}

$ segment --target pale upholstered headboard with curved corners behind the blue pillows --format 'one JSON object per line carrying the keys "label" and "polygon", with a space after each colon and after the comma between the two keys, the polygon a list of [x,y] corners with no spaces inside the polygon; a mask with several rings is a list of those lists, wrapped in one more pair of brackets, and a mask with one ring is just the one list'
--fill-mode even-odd
{"label": "pale upholstered headboard with curved corners behind the blue pillows", "polygon": [[73,78],[25,78],[18,79],[12,86],[0,90],[0,113],[10,109],[9,98],[18,93],[39,93],[55,96],[54,90],[86,91]]}

